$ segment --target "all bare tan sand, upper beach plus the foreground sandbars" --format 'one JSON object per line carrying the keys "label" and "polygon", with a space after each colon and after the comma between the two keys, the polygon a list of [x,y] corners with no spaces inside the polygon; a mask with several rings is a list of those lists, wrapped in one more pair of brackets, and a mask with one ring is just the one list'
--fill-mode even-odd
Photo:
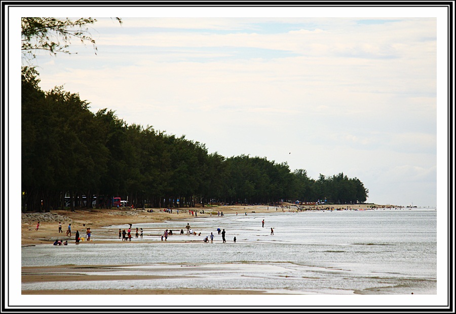
{"label": "all bare tan sand, upper beach plus the foreground sandbars", "polygon": [[[370,209],[372,205],[350,205],[350,208],[362,210]],[[376,207],[383,207],[375,205]],[[310,210],[337,210],[338,208],[347,208],[347,205],[328,205],[328,206],[303,206],[308,207]],[[301,207],[301,208],[303,208]],[[197,217],[189,215],[188,211],[197,211]],[[276,213],[276,212],[289,212],[296,211],[297,207],[284,203],[284,207],[273,207],[266,205],[257,205],[257,206],[218,206],[218,207],[198,207],[198,208],[180,208],[179,213],[177,214],[177,208],[173,208],[172,213],[163,212],[158,208],[154,208],[153,213],[148,213],[144,210],[130,210],[129,208],[121,210],[107,210],[107,209],[93,209],[88,210],[77,210],[75,212],[71,211],[51,211],[50,215],[55,216],[56,219],[62,219],[62,231],[63,233],[58,233],[58,221],[40,221],[39,230],[36,229],[37,221],[33,221],[33,218],[39,217],[39,214],[35,216],[27,216],[22,219],[22,246],[35,246],[35,245],[49,245],[52,246],[55,239],[59,238],[61,240],[68,240],[69,246],[74,246],[74,235],[77,230],[79,230],[81,236],[86,236],[86,229],[89,227],[93,232],[93,240],[82,241],[79,243],[80,246],[84,245],[97,245],[97,236],[108,236],[112,237],[112,240],[103,239],[103,241],[98,241],[98,243],[114,243],[119,242],[116,234],[113,234],[112,229],[102,228],[105,226],[111,225],[125,225],[125,228],[128,227],[128,224],[137,225],[140,223],[153,223],[153,222],[163,222],[166,220],[179,219],[183,220],[185,223],[195,222],[196,220],[205,219],[207,217],[217,216],[217,212],[223,212],[224,215],[244,215],[244,213]],[[204,214],[202,213],[204,211]],[[49,216],[49,214],[47,214]],[[51,216],[51,217],[53,217]],[[49,219],[48,219],[49,220]],[[68,223],[71,222],[72,235],[66,236],[65,232],[68,226]],[[134,228],[133,228],[134,230]],[[132,230],[132,232],[133,232]],[[201,238],[188,239],[188,237],[182,237],[182,241],[179,242],[191,242],[191,241],[201,241]],[[143,243],[140,239],[134,239],[130,242],[132,245],[135,243]],[[160,243],[158,241],[157,243]],[[175,242],[175,241],[174,241]],[[161,242],[165,243],[165,242]],[[91,267],[84,267],[82,265],[61,265],[61,266],[40,266],[40,267],[22,267],[21,282],[22,283],[36,283],[36,282],[60,282],[60,281],[116,281],[116,280],[159,280],[163,279],[163,276],[159,275],[129,275],[126,276],[116,276],[112,273],[106,272],[106,275],[91,275],[90,269],[93,271],[108,271],[109,267],[116,267],[117,265],[98,265]],[[81,269],[84,268],[84,271],[89,273],[80,274]],[[205,290],[205,289],[98,289],[91,291],[75,291],[75,290],[23,290],[22,294],[264,294],[265,292],[259,290]]]}

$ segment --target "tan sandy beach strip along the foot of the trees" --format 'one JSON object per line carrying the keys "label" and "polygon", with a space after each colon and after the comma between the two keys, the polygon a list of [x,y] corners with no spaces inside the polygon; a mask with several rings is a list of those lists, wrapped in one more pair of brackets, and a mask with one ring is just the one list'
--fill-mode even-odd
{"label": "tan sandy beach strip along the foot of the trees", "polygon": [[[172,208],[172,213],[163,211],[163,208],[153,208],[153,213],[148,213],[146,210],[130,210],[130,209],[95,209],[92,210],[55,210],[50,213],[33,213],[22,214],[21,222],[21,246],[33,246],[40,244],[52,245],[55,239],[68,240],[68,245],[74,245],[74,236],[79,230],[81,237],[86,237],[87,228],[91,228],[92,239],[91,243],[96,242],[97,235],[106,234],[109,226],[125,225],[128,228],[129,224],[139,225],[145,223],[164,222],[167,220],[181,219],[186,222],[197,221],[207,217],[217,217],[223,219],[222,216],[217,216],[217,212],[223,212],[223,215],[245,215],[245,213],[280,213],[280,212],[296,212],[297,207],[294,204],[283,203],[281,206],[268,205],[232,205],[232,206],[216,206],[216,207],[194,207],[194,208]],[[370,210],[372,208],[387,208],[395,207],[391,205],[374,205],[374,204],[356,204],[356,205],[318,205],[318,206],[301,206],[306,210],[341,210],[350,208],[352,210]],[[177,212],[179,210],[179,212]],[[196,211],[197,216],[189,215],[189,211]],[[204,214],[202,213],[204,211]],[[40,219],[45,216],[46,220]],[[37,222],[40,221],[38,230],[36,229]],[[62,224],[63,233],[58,232],[58,223]],[[71,236],[66,236],[68,224],[71,223]],[[134,230],[132,233],[134,236]],[[103,240],[103,243],[118,242],[116,234],[112,234],[112,240]],[[139,243],[142,240],[136,238],[135,242]],[[187,240],[183,240],[187,242]],[[191,240],[192,241],[192,240]],[[89,242],[82,241],[81,245]]]}

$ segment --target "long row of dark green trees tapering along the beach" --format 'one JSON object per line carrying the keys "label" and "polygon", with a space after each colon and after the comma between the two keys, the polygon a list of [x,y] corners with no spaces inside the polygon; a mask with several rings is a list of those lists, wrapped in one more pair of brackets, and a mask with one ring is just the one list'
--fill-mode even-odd
{"label": "long row of dark green trees tapering along the beach", "polygon": [[119,196],[136,207],[367,199],[363,183],[343,173],[314,180],[287,163],[209,154],[184,135],[129,125],[108,109],[93,113],[89,102],[62,87],[43,91],[34,67],[23,66],[21,78],[24,212],[63,208],[65,195],[71,209],[92,207],[93,199],[109,207]]}

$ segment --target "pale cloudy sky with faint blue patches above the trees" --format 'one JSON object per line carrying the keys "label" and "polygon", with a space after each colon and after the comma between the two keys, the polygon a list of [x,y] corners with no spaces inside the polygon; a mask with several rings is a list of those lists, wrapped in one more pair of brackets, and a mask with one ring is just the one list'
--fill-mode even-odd
{"label": "pale cloudy sky with faint blue patches above the trees", "polygon": [[368,202],[436,206],[438,108],[447,106],[437,98],[437,18],[306,17],[310,9],[108,15],[122,25],[92,15],[96,54],[74,41],[77,54],[34,62],[42,89],[63,85],[94,112],[314,179],[343,172],[364,183]]}

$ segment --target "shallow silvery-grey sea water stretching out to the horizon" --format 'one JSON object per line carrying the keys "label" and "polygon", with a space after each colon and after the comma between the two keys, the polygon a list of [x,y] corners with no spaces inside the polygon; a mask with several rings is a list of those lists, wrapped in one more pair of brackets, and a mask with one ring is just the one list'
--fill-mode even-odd
{"label": "shallow silvery-grey sea water stretching out to the horizon", "polygon": [[[119,225],[105,227],[105,237],[97,237],[94,230],[94,245],[21,249],[22,266],[82,265],[81,274],[159,277],[73,282],[69,275],[65,282],[22,283],[21,288],[191,288],[316,295],[437,293],[435,208],[288,212],[270,207],[268,213],[188,216],[180,213],[178,219],[134,224],[132,242],[118,239],[119,228],[128,228]],[[187,223],[197,235],[185,234]],[[136,227],[144,229],[143,243],[133,243],[138,241],[133,231]],[[225,230],[226,242],[217,228]],[[173,235],[164,241],[161,235],[166,229]],[[213,243],[203,242],[211,232]],[[106,241],[112,239],[119,242]]]}

